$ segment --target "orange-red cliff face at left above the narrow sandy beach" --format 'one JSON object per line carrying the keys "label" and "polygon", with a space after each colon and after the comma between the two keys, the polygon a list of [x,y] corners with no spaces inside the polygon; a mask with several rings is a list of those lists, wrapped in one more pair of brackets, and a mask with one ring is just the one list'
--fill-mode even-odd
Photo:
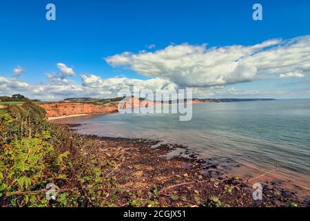
{"label": "orange-red cliff face at left above the narrow sandy beach", "polygon": [[82,103],[59,102],[52,104],[40,104],[44,108],[47,117],[64,117],[70,115],[82,115],[92,113],[113,113],[117,111],[118,106],[103,106]]}

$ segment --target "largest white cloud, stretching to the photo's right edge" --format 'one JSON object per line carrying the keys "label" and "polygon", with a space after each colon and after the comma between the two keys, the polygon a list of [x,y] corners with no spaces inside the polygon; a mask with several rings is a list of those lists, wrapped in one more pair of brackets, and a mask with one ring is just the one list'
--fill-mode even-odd
{"label": "largest white cloud, stretching to the photo's right edge", "polygon": [[180,87],[223,86],[296,71],[309,75],[309,60],[310,36],[270,39],[253,46],[171,45],[155,52],[123,52],[105,58],[113,67],[169,79]]}

